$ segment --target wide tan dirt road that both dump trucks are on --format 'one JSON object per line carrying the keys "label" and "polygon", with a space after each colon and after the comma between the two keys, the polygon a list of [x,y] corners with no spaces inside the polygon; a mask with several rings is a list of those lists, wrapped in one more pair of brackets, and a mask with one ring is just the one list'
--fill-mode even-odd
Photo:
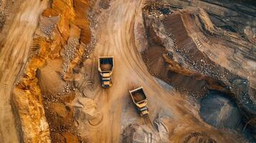
{"label": "wide tan dirt road that both dump trucks are on", "polygon": [[[165,112],[176,121],[173,126],[179,129],[173,134],[175,137],[172,141],[179,142],[184,134],[199,130],[212,134],[218,142],[230,142],[232,139],[204,124],[196,109],[177,96],[178,92],[165,91],[148,73],[133,36],[136,19],[141,19],[142,6],[141,0],[113,0],[110,8],[100,15],[99,39],[92,58],[95,61],[93,79],[98,86],[95,87],[94,100],[103,114],[103,122],[97,127],[87,127],[90,129],[85,136],[91,142],[120,142],[120,134],[125,126],[141,122],[141,117],[131,104],[128,90],[143,86],[148,96],[151,121],[158,112]],[[113,87],[110,89],[102,89],[98,83],[98,56],[115,57]]]}

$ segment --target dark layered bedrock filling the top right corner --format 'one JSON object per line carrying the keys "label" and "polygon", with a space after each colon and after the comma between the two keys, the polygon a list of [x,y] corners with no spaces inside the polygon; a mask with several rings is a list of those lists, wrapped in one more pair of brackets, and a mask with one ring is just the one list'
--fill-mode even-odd
{"label": "dark layered bedrock filling the top right corner", "polygon": [[[179,1],[164,0],[172,6],[182,8],[184,6],[200,7],[207,11],[212,22],[221,29],[233,31],[255,41],[256,18],[255,1],[236,1],[232,0],[201,0],[201,1]],[[254,5],[250,4],[254,3]],[[246,22],[245,22],[246,21]],[[250,35],[245,31],[254,31]]]}

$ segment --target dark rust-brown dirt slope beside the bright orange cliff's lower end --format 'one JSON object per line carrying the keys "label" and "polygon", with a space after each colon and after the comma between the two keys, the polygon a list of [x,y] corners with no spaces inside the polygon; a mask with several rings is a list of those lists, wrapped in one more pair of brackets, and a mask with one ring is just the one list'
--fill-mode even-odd
{"label": "dark rust-brown dirt slope beside the bright orange cliff's lower end", "polygon": [[52,142],[80,142],[75,127],[74,112],[68,106],[75,93],[62,96],[43,95],[47,122],[51,129]]}

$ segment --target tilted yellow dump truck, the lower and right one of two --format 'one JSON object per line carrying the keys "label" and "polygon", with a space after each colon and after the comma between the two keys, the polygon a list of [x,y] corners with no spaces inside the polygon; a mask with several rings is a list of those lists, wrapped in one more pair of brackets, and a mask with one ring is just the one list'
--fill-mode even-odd
{"label": "tilted yellow dump truck, the lower and right one of two", "polygon": [[141,117],[148,117],[147,97],[143,91],[143,87],[138,87],[130,92],[133,103],[136,104],[136,109],[141,114]]}

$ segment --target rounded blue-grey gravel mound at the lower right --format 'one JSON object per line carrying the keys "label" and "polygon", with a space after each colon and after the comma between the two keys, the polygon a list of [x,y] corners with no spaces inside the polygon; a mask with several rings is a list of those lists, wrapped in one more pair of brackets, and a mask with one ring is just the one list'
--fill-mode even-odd
{"label": "rounded blue-grey gravel mound at the lower right", "polygon": [[210,92],[202,100],[200,115],[205,122],[217,128],[236,129],[242,122],[238,107],[224,97],[225,94]]}

